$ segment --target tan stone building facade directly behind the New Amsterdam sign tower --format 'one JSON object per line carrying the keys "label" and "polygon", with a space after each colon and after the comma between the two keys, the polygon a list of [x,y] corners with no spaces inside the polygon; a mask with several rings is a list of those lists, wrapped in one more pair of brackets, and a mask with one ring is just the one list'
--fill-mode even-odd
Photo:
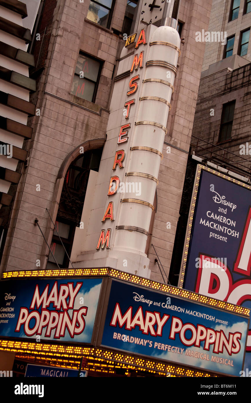
{"label": "tan stone building facade directly behind the New Amsterdam sign tower", "polygon": [[[135,10],[137,13],[138,8]],[[167,276],[170,268],[205,48],[205,43],[195,41],[195,33],[207,29],[210,10],[210,1],[180,3],[181,55],[166,125],[157,210],[149,231],[149,268],[151,278],[158,281],[162,276],[155,262],[156,253]],[[2,271],[57,268],[54,257],[60,267],[71,267],[58,234],[70,256],[74,235],[82,231],[79,220],[85,195],[91,208],[88,179],[93,178],[93,170],[98,171],[106,140],[113,81],[125,43],[126,2],[116,1],[108,14],[106,20],[106,15],[93,16],[89,2],[44,2],[35,32],[38,40],[32,49],[35,66],[31,69],[31,77],[37,81],[31,101],[39,112],[30,120],[33,135],[25,145],[27,164],[11,211]],[[85,87],[77,81],[81,71]],[[76,163],[83,153],[89,155],[88,166],[83,160],[81,166]]]}

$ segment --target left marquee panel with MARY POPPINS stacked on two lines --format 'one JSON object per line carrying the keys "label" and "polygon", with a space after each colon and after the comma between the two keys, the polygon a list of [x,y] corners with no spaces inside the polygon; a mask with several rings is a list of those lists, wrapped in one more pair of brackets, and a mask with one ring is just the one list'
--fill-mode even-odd
{"label": "left marquee panel with MARY POPPINS stacked on two lines", "polygon": [[0,282],[0,337],[91,343],[102,278]]}

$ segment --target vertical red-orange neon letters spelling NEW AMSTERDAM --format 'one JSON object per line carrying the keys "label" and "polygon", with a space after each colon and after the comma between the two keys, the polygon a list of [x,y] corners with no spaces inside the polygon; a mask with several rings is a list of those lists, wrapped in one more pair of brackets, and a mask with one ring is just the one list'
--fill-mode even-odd
{"label": "vertical red-orange neon letters spelling NEW AMSTERDAM", "polygon": [[[135,36],[133,36],[133,35],[135,35]],[[129,42],[131,44],[135,40],[136,34],[133,34],[133,35],[131,35],[130,37],[127,38],[128,45],[129,45]],[[129,41],[129,38],[131,38],[130,41]],[[141,29],[141,32],[137,39],[135,48],[137,48],[140,44],[145,45],[146,43],[147,42],[146,42],[146,38],[145,38],[145,30]],[[126,46],[127,46],[127,42],[126,42]],[[142,67],[143,67],[143,50],[139,53],[139,55],[135,54],[135,56],[133,58],[133,63],[131,66],[131,73],[134,70],[138,70],[139,68],[142,68]],[[130,79],[130,81],[129,81],[130,90],[127,92],[127,96],[130,96],[137,91],[137,88],[138,88],[137,80],[139,80],[139,75],[136,75]],[[135,99],[130,99],[124,104],[124,107],[127,110],[126,116],[125,116],[126,119],[129,118],[130,108],[133,104],[135,104]],[[130,127],[131,127],[131,123],[127,123],[126,125],[120,126],[120,131],[118,134],[118,144],[127,142],[128,131],[129,131]],[[124,166],[122,164],[122,161],[124,160],[124,156],[125,156],[124,150],[116,151],[115,157],[114,157],[114,163],[112,166],[113,170],[116,170],[117,165],[119,168],[124,168]],[[115,184],[115,187],[114,187],[114,184]],[[116,191],[118,189],[118,186],[119,186],[119,177],[114,175],[110,178],[108,196],[114,195],[114,193],[116,193]],[[105,222],[107,219],[110,219],[111,221],[114,220],[113,202],[109,202],[108,207],[106,208],[106,212],[104,213],[104,216],[102,218],[102,222]],[[109,248],[110,235],[111,235],[110,228],[107,229],[106,233],[105,233],[105,230],[102,229],[102,231],[100,233],[100,237],[97,242],[96,249],[100,249],[100,248],[103,249],[104,247]]]}

